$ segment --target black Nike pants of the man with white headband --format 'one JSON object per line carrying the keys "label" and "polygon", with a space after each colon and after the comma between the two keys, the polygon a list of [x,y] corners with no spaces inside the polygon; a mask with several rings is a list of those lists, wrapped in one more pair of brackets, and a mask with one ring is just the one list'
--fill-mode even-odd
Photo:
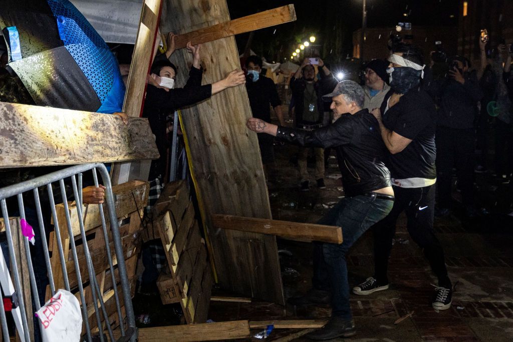
{"label": "black Nike pants of the man with white headband", "polygon": [[435,185],[424,188],[393,187],[396,201],[392,211],[372,227],[374,233],[374,277],[378,284],[388,284],[388,258],[399,215],[406,211],[407,229],[413,241],[423,250],[439,286],[451,287],[442,245],[433,232]]}

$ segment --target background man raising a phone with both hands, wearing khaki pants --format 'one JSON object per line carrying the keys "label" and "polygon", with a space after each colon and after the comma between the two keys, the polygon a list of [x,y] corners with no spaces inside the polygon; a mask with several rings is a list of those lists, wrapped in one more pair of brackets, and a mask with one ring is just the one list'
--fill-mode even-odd
{"label": "background man raising a phone with both hands, wearing khaki pants", "polygon": [[[312,60],[319,63],[319,81],[315,78],[315,68]],[[331,92],[337,81],[321,58],[305,58],[303,64],[290,78],[290,89],[294,100],[295,125],[299,129],[312,131],[322,127],[324,118],[324,101],[322,96]],[[298,166],[301,177],[301,191],[308,191],[309,175],[307,170],[307,148],[300,147],[298,152]],[[324,184],[324,150],[314,148],[315,152],[315,179],[319,189],[326,188]]]}

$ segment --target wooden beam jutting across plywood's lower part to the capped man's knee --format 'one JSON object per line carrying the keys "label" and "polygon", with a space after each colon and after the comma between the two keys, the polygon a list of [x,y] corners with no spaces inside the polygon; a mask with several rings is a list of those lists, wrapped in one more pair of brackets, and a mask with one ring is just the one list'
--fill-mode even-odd
{"label": "wooden beam jutting across plywood's lower part to the capped man's knee", "polygon": [[212,215],[212,224],[215,228],[278,235],[292,240],[342,243],[341,227],[216,214]]}

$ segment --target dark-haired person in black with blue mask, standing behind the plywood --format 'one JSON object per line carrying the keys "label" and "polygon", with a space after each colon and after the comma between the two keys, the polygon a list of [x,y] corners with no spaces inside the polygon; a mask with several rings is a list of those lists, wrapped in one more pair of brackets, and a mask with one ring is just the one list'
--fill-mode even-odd
{"label": "dark-haired person in black with blue mask, standing behind the plywood", "polygon": [[[282,102],[276,86],[272,79],[260,74],[262,71],[262,58],[259,56],[249,56],[246,59],[245,65],[248,71],[246,90],[253,117],[270,122],[271,110],[269,105],[271,105],[280,125],[285,126]],[[258,144],[260,146],[260,155],[262,156],[266,179],[269,180],[269,176],[272,179],[271,165],[274,162],[273,138],[267,134],[258,134]]]}

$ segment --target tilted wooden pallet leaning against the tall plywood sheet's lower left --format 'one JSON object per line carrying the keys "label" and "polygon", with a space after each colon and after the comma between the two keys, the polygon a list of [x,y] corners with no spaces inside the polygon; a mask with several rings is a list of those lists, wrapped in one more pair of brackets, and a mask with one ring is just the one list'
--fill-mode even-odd
{"label": "tilted wooden pallet leaning against the tall plywood sheet's lower left", "polygon": [[170,300],[165,291],[172,286],[178,291],[187,323],[204,323],[213,278],[186,183],[180,180],[168,184],[153,209],[170,270],[170,277],[164,279],[166,288],[162,277],[159,283],[163,303]]}

